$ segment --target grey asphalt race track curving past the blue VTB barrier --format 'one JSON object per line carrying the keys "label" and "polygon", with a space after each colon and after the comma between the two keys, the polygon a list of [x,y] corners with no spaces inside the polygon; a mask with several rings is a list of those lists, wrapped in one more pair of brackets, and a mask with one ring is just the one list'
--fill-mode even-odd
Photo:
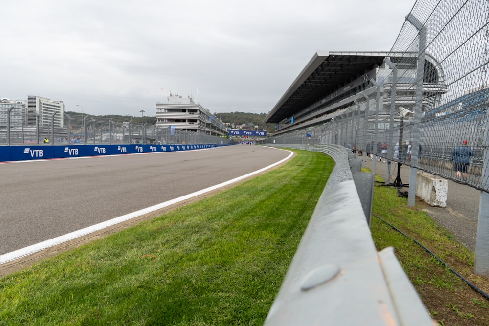
{"label": "grey asphalt race track curving past the blue VTB barrier", "polygon": [[255,145],[0,164],[0,255],[267,167]]}

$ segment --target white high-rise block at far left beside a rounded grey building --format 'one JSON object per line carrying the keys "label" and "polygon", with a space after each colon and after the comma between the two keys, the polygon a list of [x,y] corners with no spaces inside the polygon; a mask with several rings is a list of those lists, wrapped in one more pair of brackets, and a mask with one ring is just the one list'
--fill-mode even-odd
{"label": "white high-rise block at far left beside a rounded grey building", "polygon": [[54,127],[64,127],[65,104],[62,101],[51,101],[40,96],[27,96],[27,126],[36,126],[39,117],[40,126],[50,126],[54,115]]}

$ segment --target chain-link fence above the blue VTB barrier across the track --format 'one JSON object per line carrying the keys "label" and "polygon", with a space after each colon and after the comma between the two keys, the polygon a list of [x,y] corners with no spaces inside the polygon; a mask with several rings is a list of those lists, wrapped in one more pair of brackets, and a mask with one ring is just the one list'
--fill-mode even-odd
{"label": "chain-link fence above the blue VTB barrier across the track", "polygon": [[[5,119],[8,120],[8,119]],[[21,144],[215,144],[228,143],[227,138],[202,132],[155,127],[132,121],[101,119],[89,115],[70,117],[64,126],[0,126],[0,145]]]}

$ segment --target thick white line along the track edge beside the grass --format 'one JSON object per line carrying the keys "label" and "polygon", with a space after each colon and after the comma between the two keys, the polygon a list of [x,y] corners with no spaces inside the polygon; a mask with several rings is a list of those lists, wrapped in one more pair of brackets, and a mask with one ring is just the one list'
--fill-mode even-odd
{"label": "thick white line along the track edge beside the grass", "polygon": [[[284,151],[284,150],[281,150],[281,151]],[[178,197],[178,198],[175,198],[175,199],[172,199],[172,200],[168,200],[168,201],[165,201],[165,202],[163,202],[161,204],[157,204],[157,205],[154,205],[154,206],[143,208],[143,209],[141,209],[139,211],[135,211],[133,213],[129,213],[129,214],[126,214],[126,215],[123,215],[123,216],[115,217],[115,218],[112,218],[112,219],[110,219],[108,221],[105,221],[105,222],[102,222],[102,223],[98,223],[98,224],[95,224],[95,225],[92,225],[92,226],[83,228],[83,229],[78,230],[78,231],[67,233],[67,234],[65,234],[63,236],[59,236],[59,237],[56,237],[56,238],[53,238],[53,239],[45,240],[43,242],[39,242],[39,243],[30,245],[30,246],[24,247],[22,249],[18,249],[18,250],[15,250],[15,251],[12,251],[12,252],[9,252],[9,253],[0,255],[0,264],[3,264],[3,263],[8,262],[8,261],[13,261],[15,259],[19,259],[21,257],[27,256],[27,255],[30,255],[30,254],[33,254],[33,253],[38,252],[38,251],[41,251],[43,249],[50,248],[50,247],[55,246],[57,244],[60,244],[60,243],[63,243],[63,242],[67,242],[69,240],[72,240],[72,239],[76,239],[76,238],[85,236],[85,235],[90,234],[92,232],[102,230],[102,229],[104,229],[106,227],[109,227],[109,226],[112,226],[112,225],[115,225],[115,224],[118,224],[118,223],[122,223],[122,222],[125,222],[127,220],[130,220],[132,218],[139,217],[141,215],[148,214],[148,213],[151,213],[153,211],[156,211],[156,210],[159,210],[159,209],[162,209],[162,208],[165,208],[165,207],[168,207],[168,206],[177,204],[180,201],[188,200],[190,198],[193,198],[193,197],[196,197],[196,196],[200,196],[202,194],[205,194],[205,193],[211,192],[213,190],[222,188],[224,186],[230,185],[230,184],[235,183],[237,181],[243,180],[243,179],[245,179],[245,178],[247,178],[249,176],[252,176],[252,175],[255,175],[255,174],[259,174],[259,173],[261,173],[263,171],[266,171],[266,170],[268,170],[270,168],[273,168],[276,165],[279,165],[279,164],[287,161],[293,155],[293,152],[290,152],[290,151],[287,151],[287,152],[290,153],[289,156],[287,156],[283,160],[280,160],[280,161],[278,161],[276,163],[273,163],[271,165],[268,165],[267,167],[265,167],[263,169],[260,169],[260,170],[257,170],[257,171],[254,171],[254,172],[251,172],[251,173],[248,173],[248,174],[239,176],[239,177],[234,178],[234,179],[231,179],[229,181],[222,182],[222,183],[217,184],[215,186],[211,186],[211,187],[208,187],[208,188],[205,188],[205,189],[196,191],[195,193],[192,193],[192,194],[189,194],[189,195],[185,195],[185,196],[181,196],[181,197]]]}

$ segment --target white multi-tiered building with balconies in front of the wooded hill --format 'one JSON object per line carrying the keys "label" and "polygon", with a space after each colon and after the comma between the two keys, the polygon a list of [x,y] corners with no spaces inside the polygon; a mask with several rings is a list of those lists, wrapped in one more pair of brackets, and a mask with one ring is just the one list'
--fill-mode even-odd
{"label": "white multi-tiered building with balconies in front of the wooded hill", "polygon": [[195,103],[191,96],[170,94],[168,103],[156,103],[156,126],[205,133],[213,136],[227,135],[222,122],[208,109]]}

